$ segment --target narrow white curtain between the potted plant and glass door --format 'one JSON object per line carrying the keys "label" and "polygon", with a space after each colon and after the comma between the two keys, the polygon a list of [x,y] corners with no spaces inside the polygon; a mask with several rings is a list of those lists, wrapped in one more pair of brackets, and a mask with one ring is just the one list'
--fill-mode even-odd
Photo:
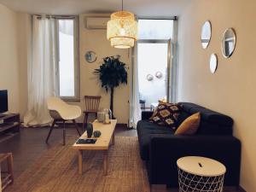
{"label": "narrow white curtain between the potted plant and glass door", "polygon": [[138,67],[137,67],[137,46],[134,47],[131,70],[130,90],[130,127],[136,128],[137,121],[142,119],[142,109],[139,98]]}

